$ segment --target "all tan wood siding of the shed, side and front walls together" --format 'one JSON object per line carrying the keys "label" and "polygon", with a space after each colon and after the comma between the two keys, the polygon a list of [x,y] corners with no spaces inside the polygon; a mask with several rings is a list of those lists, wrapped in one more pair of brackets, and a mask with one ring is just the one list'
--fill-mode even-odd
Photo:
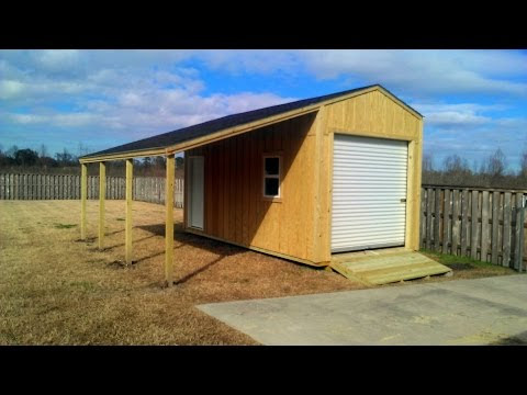
{"label": "all tan wood siding of the shed, side and front walls together", "polygon": [[[204,232],[188,230],[328,264],[335,133],[408,142],[405,246],[417,250],[423,121],[380,90],[187,151],[205,157]],[[280,202],[262,198],[265,153],[282,154]]]}

